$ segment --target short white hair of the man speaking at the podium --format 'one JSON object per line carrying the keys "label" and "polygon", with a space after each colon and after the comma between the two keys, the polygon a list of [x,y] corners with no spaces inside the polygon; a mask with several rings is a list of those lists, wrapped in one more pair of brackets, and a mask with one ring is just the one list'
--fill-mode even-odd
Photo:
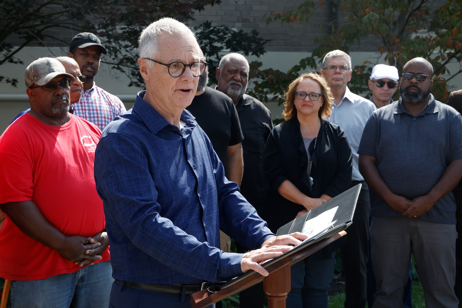
{"label": "short white hair of the man speaking at the podium", "polygon": [[[164,17],[148,25],[141,31],[140,38],[138,39],[138,49],[140,51],[140,58],[154,58],[158,53],[158,37],[162,33],[170,33],[177,36],[190,36],[197,37],[194,32],[188,28],[186,24],[179,22],[174,18]],[[199,48],[199,43],[197,43]],[[153,63],[148,61],[148,66],[152,67]]]}

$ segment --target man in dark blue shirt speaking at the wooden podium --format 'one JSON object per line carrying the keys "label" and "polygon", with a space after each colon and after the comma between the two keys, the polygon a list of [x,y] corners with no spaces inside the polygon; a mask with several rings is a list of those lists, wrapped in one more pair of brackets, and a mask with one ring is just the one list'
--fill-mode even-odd
{"label": "man in dark blue shirt speaking at the wooden podium", "polygon": [[[306,238],[275,235],[243,198],[194,117],[201,61],[194,33],[162,18],[139,40],[140,91],[133,109],[104,129],[95,152],[113,277],[110,307],[190,307],[204,281],[255,270]],[[245,254],[219,249],[219,229]],[[295,236],[295,237],[294,237]]]}

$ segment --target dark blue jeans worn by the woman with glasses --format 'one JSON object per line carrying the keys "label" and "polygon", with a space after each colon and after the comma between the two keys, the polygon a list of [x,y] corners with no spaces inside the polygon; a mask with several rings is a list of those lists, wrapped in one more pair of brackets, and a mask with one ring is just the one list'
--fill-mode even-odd
{"label": "dark blue jeans worn by the woman with glasses", "polygon": [[[327,258],[327,259],[326,259]],[[328,308],[335,251],[330,256],[316,252],[291,266],[291,291],[287,308]]]}

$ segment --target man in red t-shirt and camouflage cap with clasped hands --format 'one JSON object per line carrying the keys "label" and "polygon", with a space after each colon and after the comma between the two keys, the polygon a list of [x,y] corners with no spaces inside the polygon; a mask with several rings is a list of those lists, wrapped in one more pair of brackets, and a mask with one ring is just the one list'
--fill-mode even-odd
{"label": "man in red t-shirt and camouflage cap with clasped hands", "polygon": [[[69,113],[60,61],[25,71],[30,111],[0,136],[0,277],[13,307],[108,307],[114,279],[93,178],[101,131]],[[89,266],[90,265],[90,266]]]}

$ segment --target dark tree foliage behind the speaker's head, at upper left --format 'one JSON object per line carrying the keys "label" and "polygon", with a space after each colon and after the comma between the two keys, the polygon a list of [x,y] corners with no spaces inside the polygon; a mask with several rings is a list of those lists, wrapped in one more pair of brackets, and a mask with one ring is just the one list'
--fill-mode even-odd
{"label": "dark tree foliage behind the speaker's head, at upper left", "polygon": [[[97,34],[108,50],[102,61],[109,64],[116,75],[128,76],[130,86],[143,87],[136,62],[141,30],[164,16],[187,24],[194,20],[195,11],[217,3],[219,0],[0,0],[0,66],[23,64],[17,53],[26,46],[67,47],[69,41],[63,41],[63,37],[88,31]],[[212,81],[222,51],[257,56],[265,52],[267,41],[255,30],[245,33],[208,22],[193,30],[210,63]],[[0,76],[2,81],[13,86],[18,83],[16,79]]]}

